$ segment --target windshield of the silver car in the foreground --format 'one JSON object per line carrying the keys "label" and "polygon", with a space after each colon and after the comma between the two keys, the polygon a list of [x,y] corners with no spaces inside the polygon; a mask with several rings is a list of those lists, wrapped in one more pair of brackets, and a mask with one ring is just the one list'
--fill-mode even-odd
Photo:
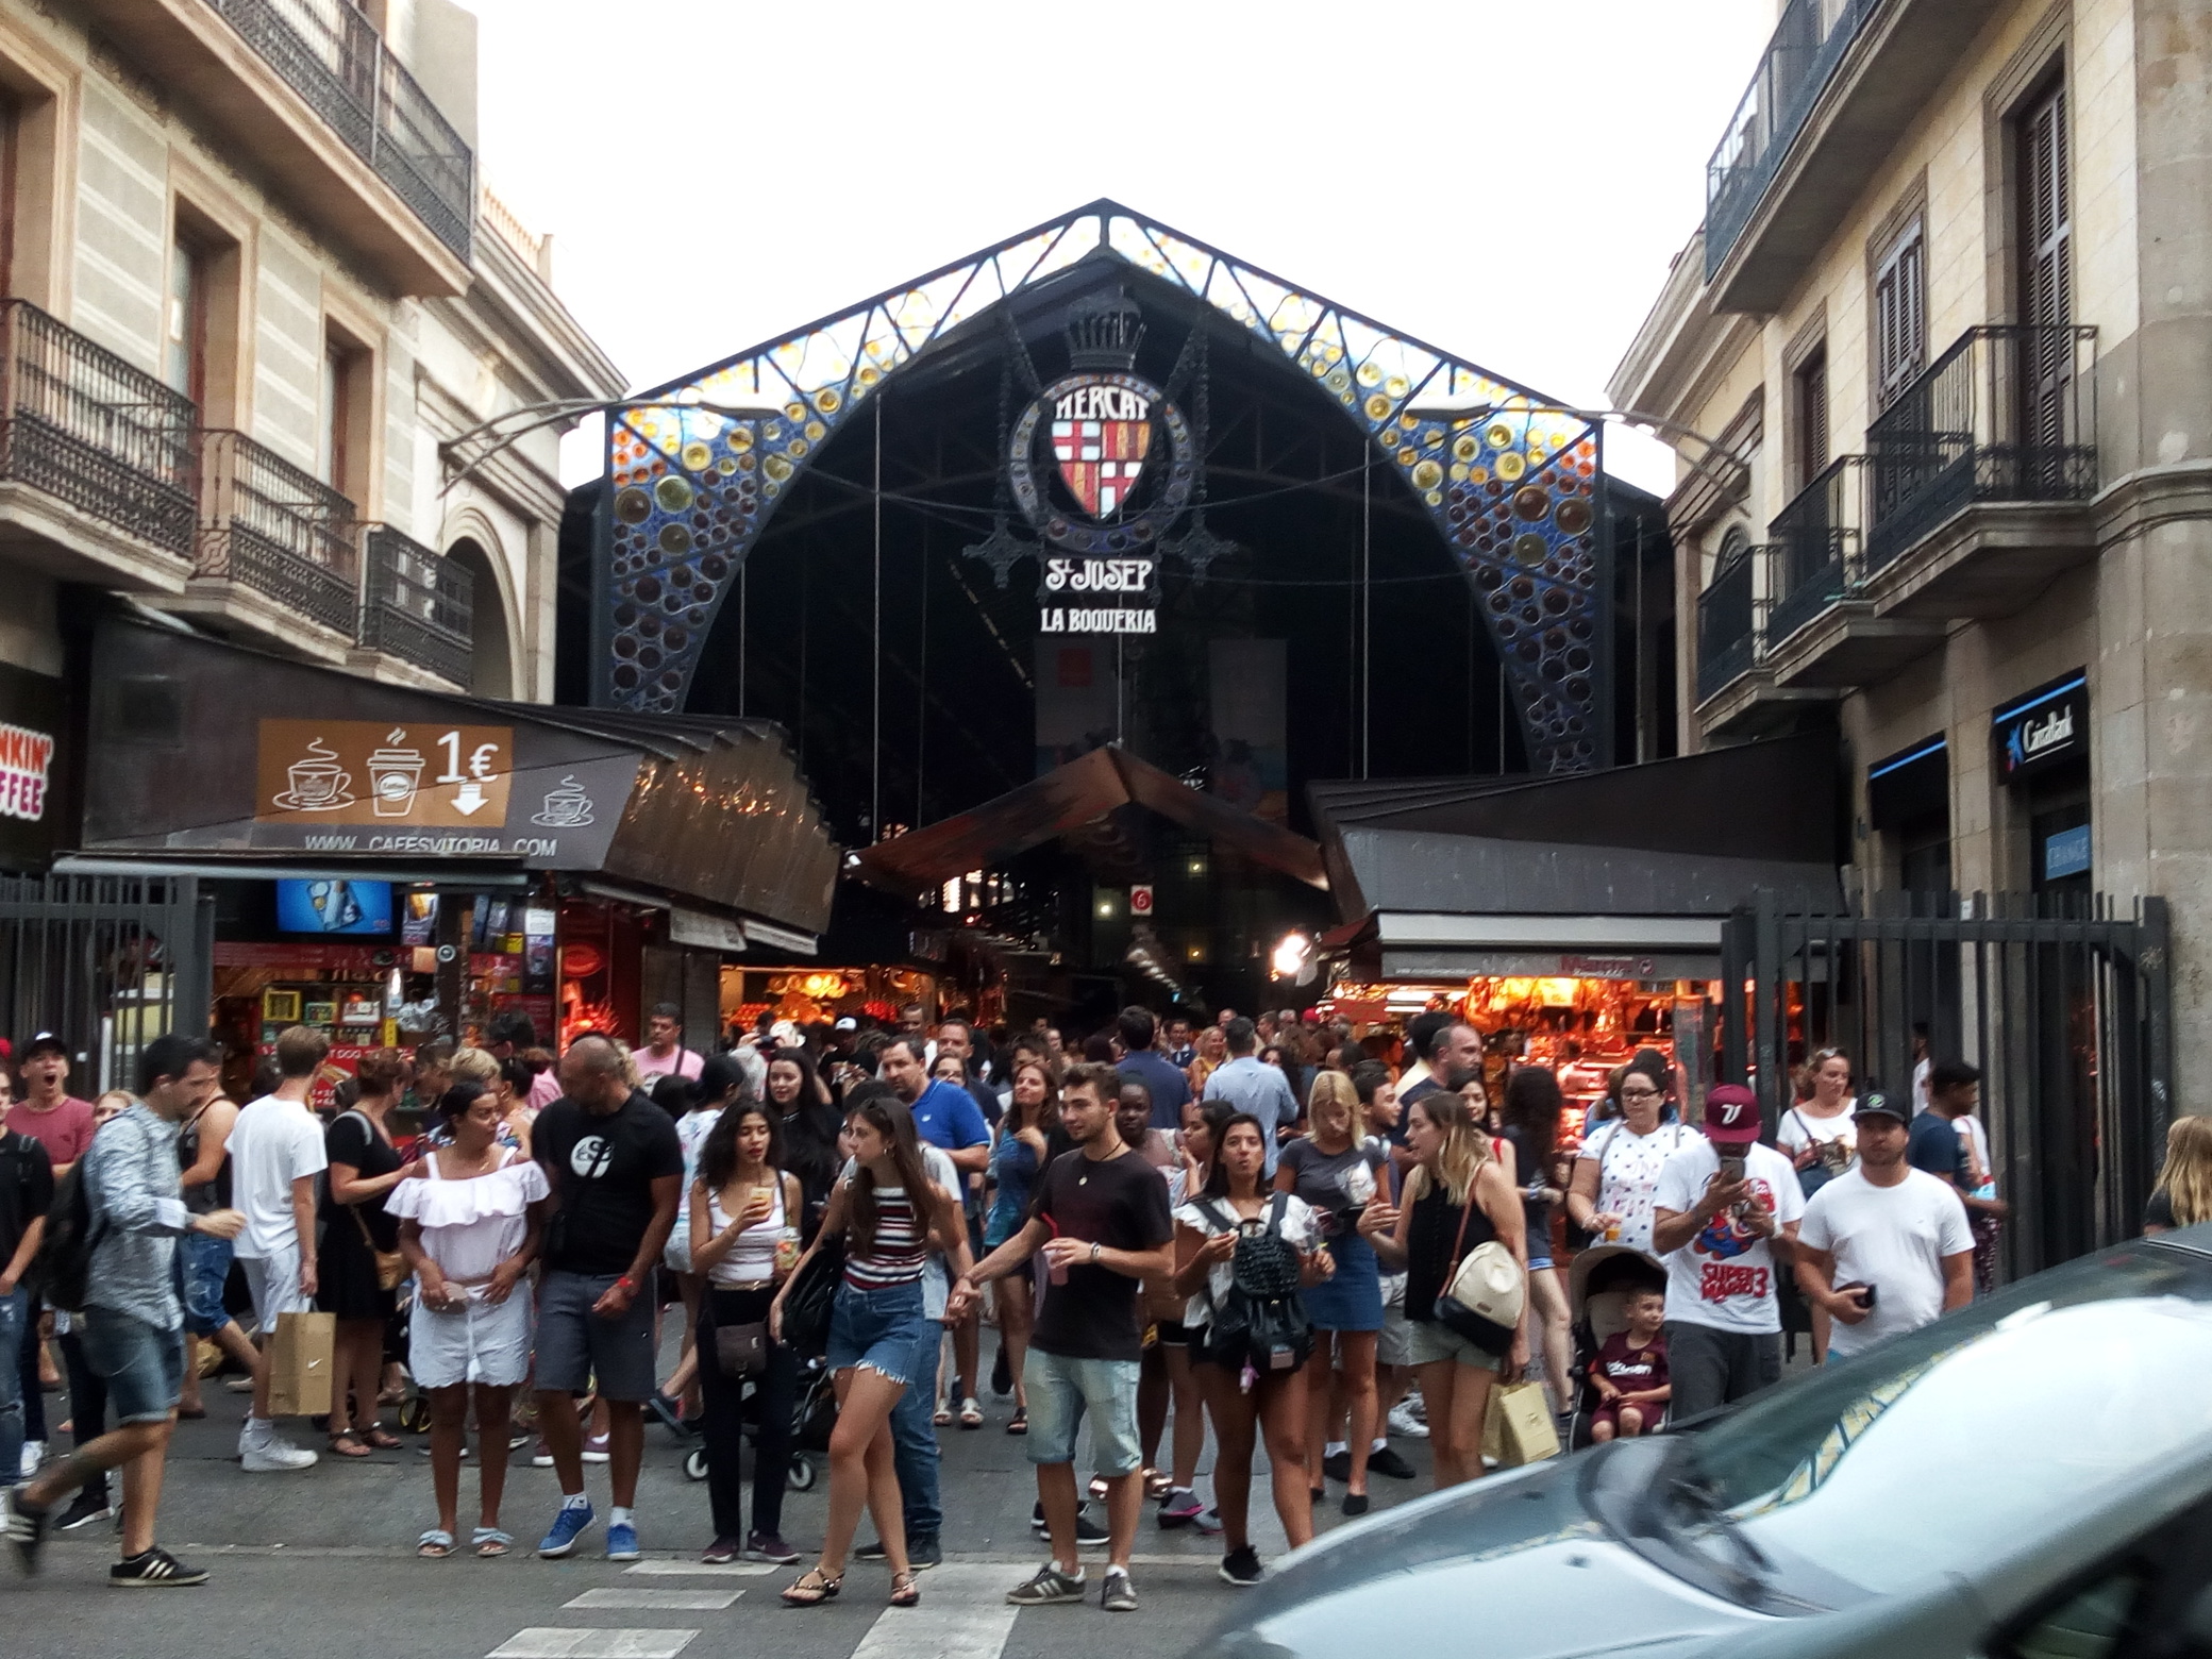
{"label": "windshield of the silver car in the foreground", "polygon": [[2106,1252],[1686,1436],[1659,1480],[1705,1524],[1670,1531],[1745,1586],[1896,1593],[2201,1447],[2208,1374],[2212,1263]]}

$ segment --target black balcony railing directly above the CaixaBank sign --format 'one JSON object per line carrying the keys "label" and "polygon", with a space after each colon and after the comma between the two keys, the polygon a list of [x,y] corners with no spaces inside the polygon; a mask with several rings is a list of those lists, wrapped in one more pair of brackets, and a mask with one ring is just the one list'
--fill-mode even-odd
{"label": "black balcony railing directly above the CaixaBank sign", "polygon": [[1973,502],[2097,489],[2097,330],[1966,330],[1867,427],[1867,575]]}

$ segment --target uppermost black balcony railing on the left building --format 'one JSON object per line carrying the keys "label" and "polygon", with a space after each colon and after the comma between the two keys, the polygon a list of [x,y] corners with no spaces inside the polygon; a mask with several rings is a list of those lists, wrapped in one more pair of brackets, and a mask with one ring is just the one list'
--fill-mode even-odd
{"label": "uppermost black balcony railing on the left building", "polygon": [[462,259],[476,157],[352,0],[208,0]]}

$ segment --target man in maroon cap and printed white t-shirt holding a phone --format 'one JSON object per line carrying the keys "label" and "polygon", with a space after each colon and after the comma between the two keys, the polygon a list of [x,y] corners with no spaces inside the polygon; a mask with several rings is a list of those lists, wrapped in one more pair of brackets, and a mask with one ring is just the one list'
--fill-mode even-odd
{"label": "man in maroon cap and printed white t-shirt holding a phone", "polygon": [[1668,1157],[1652,1194],[1652,1250],[1666,1261],[1666,1343],[1677,1422],[1783,1376],[1776,1274],[1790,1265],[1805,1194],[1796,1170],[1759,1144],[1759,1097],[1705,1095],[1705,1135]]}

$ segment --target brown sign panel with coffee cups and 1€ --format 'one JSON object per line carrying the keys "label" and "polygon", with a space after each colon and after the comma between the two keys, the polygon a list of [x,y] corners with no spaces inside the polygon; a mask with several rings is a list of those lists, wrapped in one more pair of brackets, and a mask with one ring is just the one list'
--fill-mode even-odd
{"label": "brown sign panel with coffee cups and 1\u20ac", "polygon": [[254,818],[383,830],[500,830],[511,726],[261,721]]}

